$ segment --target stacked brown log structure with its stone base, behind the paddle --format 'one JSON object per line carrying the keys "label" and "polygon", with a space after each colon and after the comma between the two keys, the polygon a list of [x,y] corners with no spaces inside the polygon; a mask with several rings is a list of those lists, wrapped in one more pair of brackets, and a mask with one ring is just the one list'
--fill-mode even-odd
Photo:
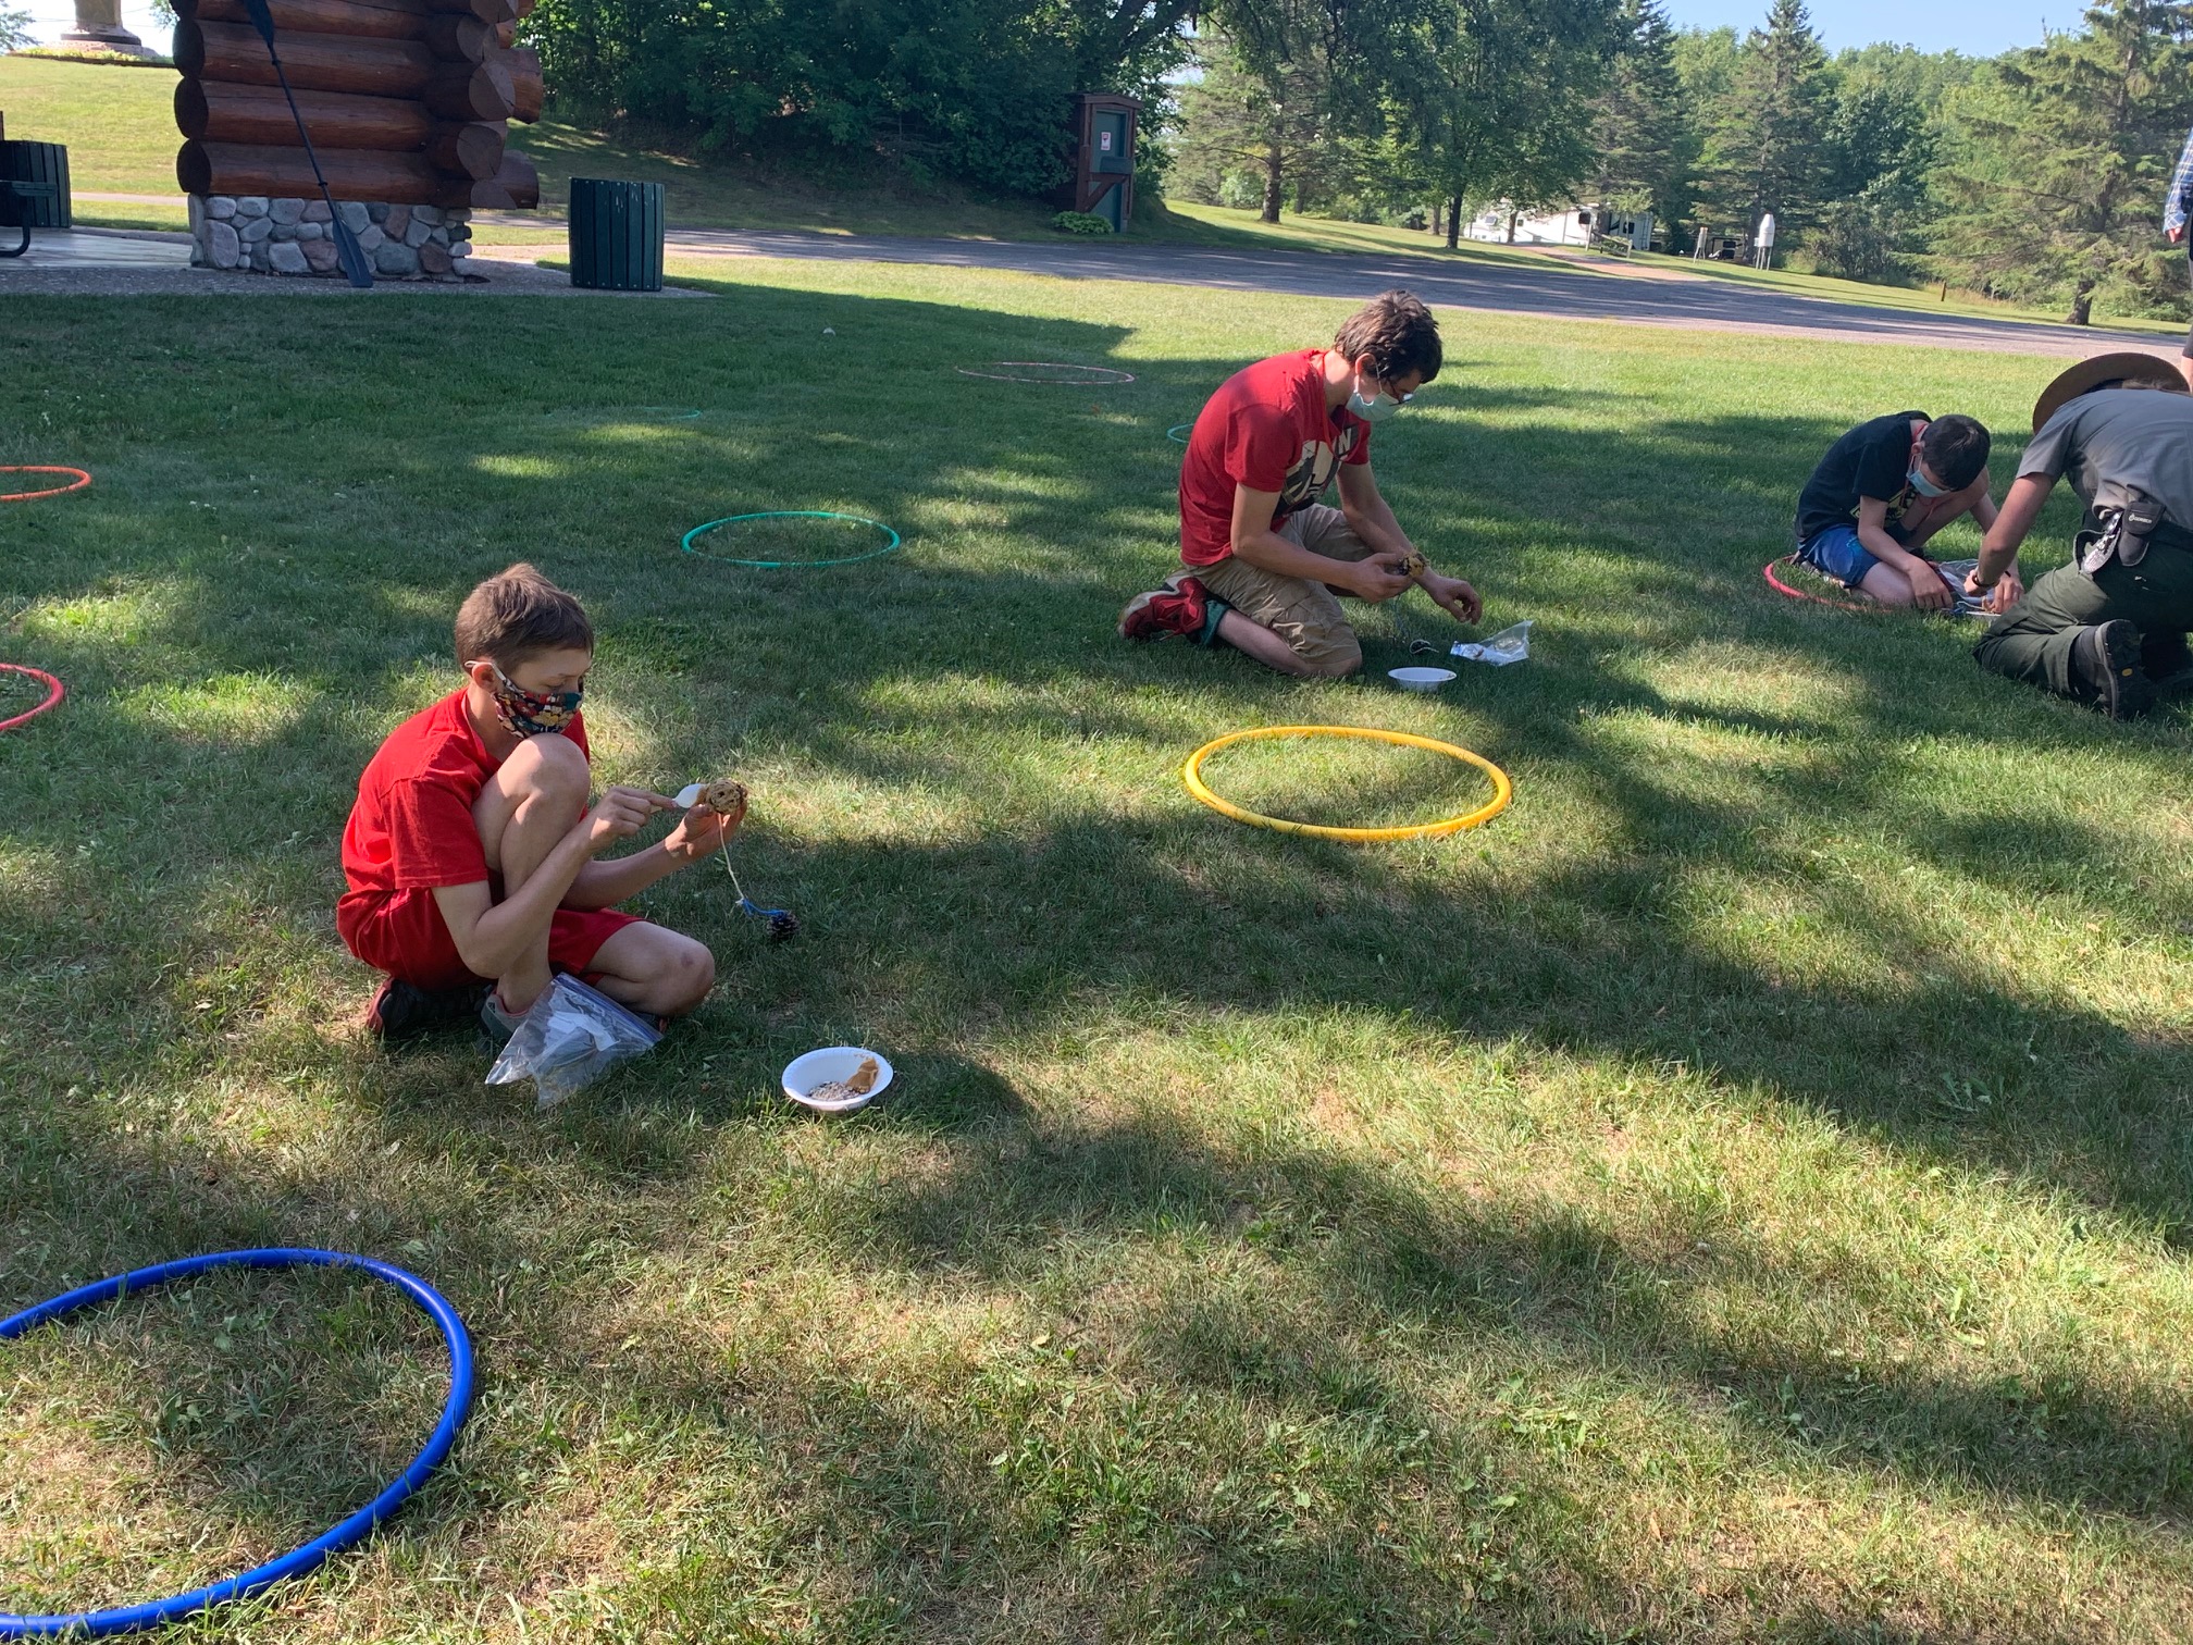
{"label": "stacked brown log structure with its stone base, behind the paddle", "polygon": [[[456,279],[474,208],[539,204],[511,121],[542,112],[535,0],[270,0],[274,42],[336,208],[375,272]],[[175,180],[193,263],[333,274],[329,206],[243,0],[175,0]]]}

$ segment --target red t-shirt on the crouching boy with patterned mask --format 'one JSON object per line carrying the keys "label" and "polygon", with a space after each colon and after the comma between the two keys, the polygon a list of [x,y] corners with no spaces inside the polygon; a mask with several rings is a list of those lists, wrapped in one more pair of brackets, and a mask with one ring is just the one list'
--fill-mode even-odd
{"label": "red t-shirt on the crouching boy with patterned mask", "polygon": [[[592,759],[583,715],[572,715],[561,735]],[[471,805],[500,763],[471,728],[463,689],[388,733],[357,779],[357,805],[342,829],[342,873],[351,890],[487,880],[487,849]]]}

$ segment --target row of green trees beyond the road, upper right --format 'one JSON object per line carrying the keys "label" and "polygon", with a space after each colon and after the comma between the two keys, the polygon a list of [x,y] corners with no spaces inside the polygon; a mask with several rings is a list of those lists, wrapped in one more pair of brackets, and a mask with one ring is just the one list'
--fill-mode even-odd
{"label": "row of green trees beyond the road, upper right", "polygon": [[1605,204],[1673,250],[1772,211],[1796,261],[2086,322],[2178,314],[2158,219],[2193,123],[2193,2],[2107,0],[2000,57],[1829,57],[1803,0],[1675,33],[1660,0],[1268,0],[1197,37],[1175,197],[1421,222]]}

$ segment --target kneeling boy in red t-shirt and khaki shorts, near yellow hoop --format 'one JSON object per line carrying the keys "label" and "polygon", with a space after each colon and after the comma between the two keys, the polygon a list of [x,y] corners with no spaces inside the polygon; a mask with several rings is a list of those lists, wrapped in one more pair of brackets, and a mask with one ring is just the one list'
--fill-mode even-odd
{"label": "kneeling boy in red t-shirt and khaki shorts, near yellow hoop", "polygon": [[[1362,645],[1338,594],[1386,601],[1410,583],[1463,623],[1482,605],[1432,570],[1371,478],[1371,423],[1439,375],[1439,322],[1408,292],[1373,298],[1331,349],[1259,360],[1195,419],[1180,463],[1186,572],[1136,594],[1121,638],[1226,640],[1281,673],[1340,676]],[[1333,476],[1340,507],[1320,500]]]}

